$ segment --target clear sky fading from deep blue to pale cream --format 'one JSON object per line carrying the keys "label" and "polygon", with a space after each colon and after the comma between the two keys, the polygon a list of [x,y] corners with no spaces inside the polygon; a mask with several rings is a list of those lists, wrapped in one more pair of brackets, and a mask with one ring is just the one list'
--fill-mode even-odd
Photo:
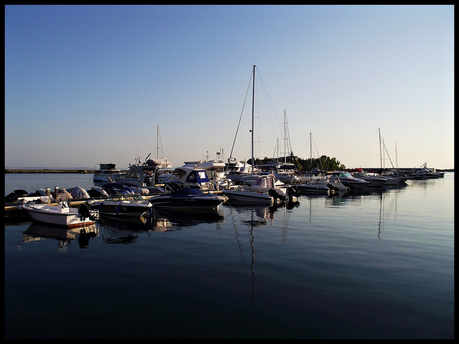
{"label": "clear sky fading from deep blue to pale cream", "polygon": [[253,65],[255,157],[454,168],[453,6],[5,6],[5,166],[249,159]]}

